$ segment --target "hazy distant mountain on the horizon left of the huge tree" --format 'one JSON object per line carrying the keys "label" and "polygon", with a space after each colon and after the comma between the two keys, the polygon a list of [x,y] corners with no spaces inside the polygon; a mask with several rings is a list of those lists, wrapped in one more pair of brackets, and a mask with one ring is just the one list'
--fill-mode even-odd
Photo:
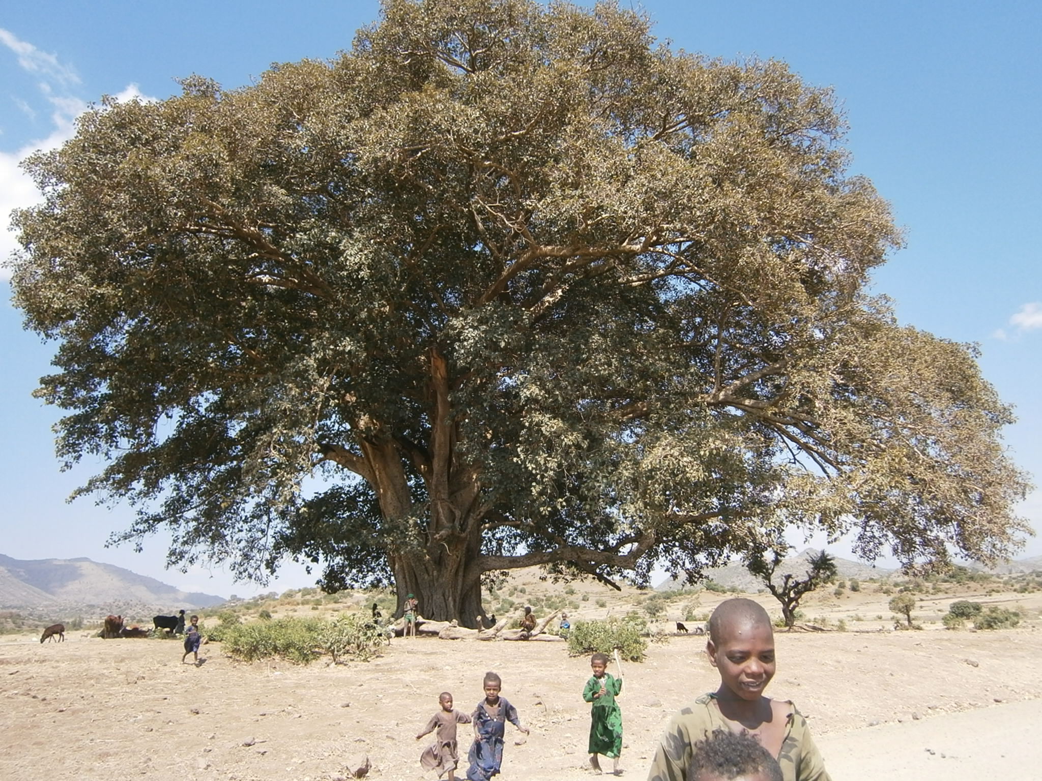
{"label": "hazy distant mountain on the horizon left of the huge tree", "polygon": [[224,601],[223,597],[185,593],[155,578],[89,558],[25,561],[0,554],[0,607],[139,604],[174,610]]}

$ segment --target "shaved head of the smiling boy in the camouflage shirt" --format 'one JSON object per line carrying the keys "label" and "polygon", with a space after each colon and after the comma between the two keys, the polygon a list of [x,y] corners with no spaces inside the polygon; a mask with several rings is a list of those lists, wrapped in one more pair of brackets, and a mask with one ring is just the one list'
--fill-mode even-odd
{"label": "shaved head of the smiling boy in the camouflage shirt", "polygon": [[767,611],[752,600],[721,602],[710,616],[705,653],[720,673],[718,697],[759,700],[774,677],[774,630]]}

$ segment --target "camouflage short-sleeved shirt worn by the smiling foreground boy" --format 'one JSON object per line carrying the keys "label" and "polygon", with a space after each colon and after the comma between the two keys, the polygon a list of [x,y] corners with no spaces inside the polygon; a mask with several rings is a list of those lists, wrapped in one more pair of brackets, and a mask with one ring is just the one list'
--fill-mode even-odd
{"label": "camouflage short-sleeved shirt worn by the smiling foreground boy", "polygon": [[[692,745],[704,740],[714,730],[730,730],[715,700],[716,695],[702,695],[670,720],[651,760],[648,781],[685,781],[691,764]],[[832,781],[811,738],[807,720],[792,702],[789,705],[785,738],[777,756],[783,778],[785,781]]]}

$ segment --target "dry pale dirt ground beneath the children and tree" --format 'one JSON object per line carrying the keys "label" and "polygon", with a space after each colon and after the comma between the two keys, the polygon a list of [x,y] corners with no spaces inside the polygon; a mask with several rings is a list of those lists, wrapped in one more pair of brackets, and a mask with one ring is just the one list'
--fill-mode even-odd
{"label": "dry pale dirt ground beneath the children and tree", "polygon": [[[857,609],[887,613],[875,624],[892,627],[885,599],[863,599]],[[1038,615],[1037,596],[988,601]],[[866,621],[851,629],[863,624],[875,628]],[[368,778],[432,779],[418,761],[427,738],[416,733],[443,689],[472,709],[488,670],[502,676],[503,695],[531,728],[521,740],[507,726],[501,778],[591,777],[580,696],[589,663],[564,644],[396,639],[368,663],[311,666],[241,663],[210,644],[194,666],[179,663],[176,641],[85,634],[65,644],[0,639],[0,778],[329,781],[368,756]],[[644,779],[670,715],[716,687],[703,643],[673,637],[652,644],[643,663],[625,664],[625,778]],[[998,632],[779,632],[776,645],[768,692],[808,716],[836,781],[1042,777],[1037,618]]]}

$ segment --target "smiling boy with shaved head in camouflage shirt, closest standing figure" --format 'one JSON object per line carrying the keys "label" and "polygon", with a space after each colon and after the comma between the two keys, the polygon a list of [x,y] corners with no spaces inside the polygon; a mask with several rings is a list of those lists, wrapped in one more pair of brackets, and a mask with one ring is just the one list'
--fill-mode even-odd
{"label": "smiling boy with shaved head in camouflage shirt, closest standing figure", "polygon": [[705,653],[720,674],[720,687],[673,716],[648,781],[684,781],[692,747],[717,729],[755,737],[778,760],[785,781],[829,781],[803,716],[788,700],[764,696],[774,677],[774,631],[767,611],[747,599],[720,603],[710,618]]}

